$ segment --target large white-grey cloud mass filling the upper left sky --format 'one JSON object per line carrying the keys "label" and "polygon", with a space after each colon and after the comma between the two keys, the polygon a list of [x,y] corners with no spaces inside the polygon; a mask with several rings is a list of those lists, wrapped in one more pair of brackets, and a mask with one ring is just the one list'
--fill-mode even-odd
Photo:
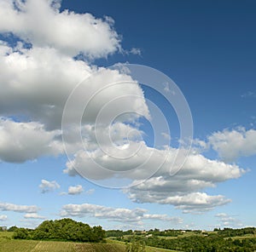
{"label": "large white-grey cloud mass filling the upper left sky", "polygon": [[[123,114],[116,118],[118,122],[130,123],[137,117],[149,117],[143,90],[131,77],[118,71],[97,69],[73,58],[80,52],[93,58],[117,50],[119,38],[113,30],[113,20],[110,17],[99,20],[91,14],[60,13],[60,3],[46,0],[3,0],[0,3],[0,32],[13,32],[26,43],[32,43],[31,48],[22,42],[11,48],[8,43],[0,42],[0,117],[5,118],[1,121],[0,141],[3,161],[25,162],[62,153],[58,130],[65,102],[76,85],[92,73],[90,82],[79,85],[81,92],[75,97],[66,121],[69,127],[83,114],[84,102],[88,103],[82,127],[90,148],[96,143],[91,139],[94,137],[91,125],[96,123],[102,108],[105,111],[98,122],[102,124],[97,131],[100,133],[116,115]],[[14,117],[18,122],[13,121]],[[138,132],[125,123],[115,123],[113,128],[119,131],[115,133],[116,144]],[[105,130],[104,134],[100,139],[102,143],[107,140],[107,145],[108,132]],[[68,135],[66,148],[73,155],[84,146],[80,135],[77,137],[72,132]]]}

